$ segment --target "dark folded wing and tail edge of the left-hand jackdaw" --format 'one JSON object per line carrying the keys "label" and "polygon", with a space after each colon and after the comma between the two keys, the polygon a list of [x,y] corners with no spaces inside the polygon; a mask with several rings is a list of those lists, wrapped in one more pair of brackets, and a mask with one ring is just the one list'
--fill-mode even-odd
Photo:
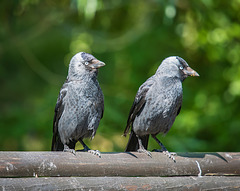
{"label": "dark folded wing and tail edge of the left-hand jackdaw", "polygon": [[52,151],[62,150],[62,148],[59,147],[63,147],[63,145],[60,143],[61,141],[58,134],[58,122],[64,110],[63,98],[67,94],[67,83],[68,81],[66,80],[59,92],[57,103],[55,106],[55,114],[53,119]]}

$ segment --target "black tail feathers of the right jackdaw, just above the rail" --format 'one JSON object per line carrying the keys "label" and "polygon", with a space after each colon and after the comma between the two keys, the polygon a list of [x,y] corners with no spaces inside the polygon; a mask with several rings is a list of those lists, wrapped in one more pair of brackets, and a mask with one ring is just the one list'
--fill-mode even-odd
{"label": "black tail feathers of the right jackdaw, just above the rail", "polygon": [[[149,135],[145,135],[139,138],[142,140],[142,144],[144,148],[147,150]],[[137,151],[138,149],[139,149],[138,137],[134,133],[134,131],[131,131],[125,152]]]}

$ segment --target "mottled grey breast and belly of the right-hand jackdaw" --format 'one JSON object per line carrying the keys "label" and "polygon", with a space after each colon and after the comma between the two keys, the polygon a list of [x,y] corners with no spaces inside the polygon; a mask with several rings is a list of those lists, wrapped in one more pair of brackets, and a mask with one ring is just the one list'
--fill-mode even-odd
{"label": "mottled grey breast and belly of the right-hand jackdaw", "polygon": [[138,134],[168,132],[182,103],[182,87],[175,85],[155,87],[148,91],[144,109],[133,123]]}

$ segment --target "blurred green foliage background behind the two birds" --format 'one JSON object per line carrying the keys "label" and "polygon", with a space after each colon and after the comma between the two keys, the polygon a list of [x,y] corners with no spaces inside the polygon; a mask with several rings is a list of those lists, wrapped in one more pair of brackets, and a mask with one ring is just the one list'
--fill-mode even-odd
{"label": "blurred green foliage background behind the two birds", "polygon": [[69,61],[86,51],[106,63],[105,112],[90,148],[123,151],[138,87],[178,55],[200,77],[184,81],[181,113],[158,138],[175,152],[240,151],[239,10],[239,0],[1,1],[0,150],[50,150]]}

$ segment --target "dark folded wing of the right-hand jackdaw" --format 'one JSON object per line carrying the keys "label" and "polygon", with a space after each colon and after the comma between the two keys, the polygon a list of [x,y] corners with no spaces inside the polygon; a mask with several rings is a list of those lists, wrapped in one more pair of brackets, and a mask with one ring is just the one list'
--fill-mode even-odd
{"label": "dark folded wing of the right-hand jackdaw", "polygon": [[150,77],[146,82],[144,82],[138,92],[137,95],[135,97],[135,100],[132,104],[132,107],[130,109],[129,115],[128,115],[128,120],[127,120],[127,126],[124,130],[124,136],[127,136],[127,133],[135,119],[135,117],[137,115],[139,115],[142,111],[142,109],[144,108],[144,105],[146,103],[146,94],[148,92],[148,90],[151,88],[151,86],[154,83],[154,76]]}

